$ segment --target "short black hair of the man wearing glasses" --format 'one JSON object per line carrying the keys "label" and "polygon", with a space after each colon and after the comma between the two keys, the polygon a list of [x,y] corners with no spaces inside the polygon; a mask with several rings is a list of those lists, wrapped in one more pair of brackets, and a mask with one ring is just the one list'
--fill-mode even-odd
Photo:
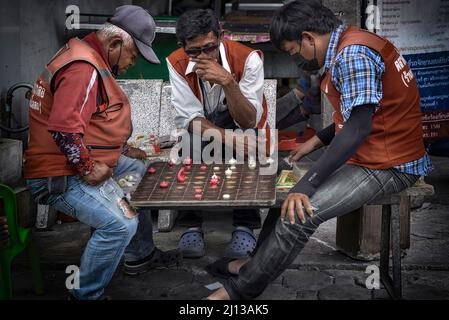
{"label": "short black hair of the man wearing glasses", "polygon": [[220,36],[220,22],[211,9],[190,10],[179,17],[176,24],[178,41],[185,46],[187,40],[195,39],[199,35],[213,32]]}

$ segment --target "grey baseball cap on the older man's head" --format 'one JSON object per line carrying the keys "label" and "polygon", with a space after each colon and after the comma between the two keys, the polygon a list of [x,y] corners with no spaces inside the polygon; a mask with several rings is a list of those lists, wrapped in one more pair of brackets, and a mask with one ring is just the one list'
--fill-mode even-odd
{"label": "grey baseball cap on the older man's head", "polygon": [[114,16],[108,22],[125,30],[147,61],[161,63],[151,47],[156,36],[156,23],[147,10],[139,6],[124,5],[115,9]]}

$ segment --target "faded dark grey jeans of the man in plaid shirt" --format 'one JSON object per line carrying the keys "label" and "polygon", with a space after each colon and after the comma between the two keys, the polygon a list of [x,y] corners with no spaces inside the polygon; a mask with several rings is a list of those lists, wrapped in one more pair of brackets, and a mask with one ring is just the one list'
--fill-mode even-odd
{"label": "faded dark grey jeans of the man in plaid shirt", "polygon": [[400,192],[418,178],[394,169],[344,165],[310,199],[316,210],[312,217],[306,214],[305,224],[297,216],[295,224],[290,224],[289,219],[281,222],[280,210],[271,209],[250,261],[240,269],[238,277],[224,284],[229,296],[234,300],[256,298],[295,260],[321,223],[350,213],[377,197]]}

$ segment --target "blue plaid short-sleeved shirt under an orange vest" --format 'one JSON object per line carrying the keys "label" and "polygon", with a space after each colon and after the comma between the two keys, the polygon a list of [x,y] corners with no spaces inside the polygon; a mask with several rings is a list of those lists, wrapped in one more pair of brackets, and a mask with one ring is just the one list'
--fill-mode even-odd
{"label": "blue plaid short-sleeved shirt under an orange vest", "polygon": [[[340,108],[344,121],[349,119],[354,107],[379,105],[382,99],[382,75],[385,71],[382,57],[366,46],[347,46],[337,55],[340,37],[346,28],[342,24],[331,33],[324,64],[325,71],[330,70],[331,81],[341,94]],[[420,176],[427,175],[433,169],[427,153],[420,159],[394,168]]]}

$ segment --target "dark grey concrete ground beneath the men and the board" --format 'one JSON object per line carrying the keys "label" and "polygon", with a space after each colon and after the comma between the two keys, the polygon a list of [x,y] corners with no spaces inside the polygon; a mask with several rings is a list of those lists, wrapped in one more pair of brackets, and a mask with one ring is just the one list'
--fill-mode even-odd
{"label": "dark grey concrete ground beneath the men and the board", "polygon": [[[405,299],[449,300],[449,158],[432,157],[435,171],[426,182],[436,194],[424,199],[411,213],[411,246],[403,258]],[[379,261],[356,261],[336,249],[336,220],[321,225],[295,262],[258,299],[266,300],[342,300],[389,299],[386,290],[368,290],[367,266]],[[161,249],[173,249],[183,229],[169,233],[155,231]],[[204,266],[215,261],[231,237],[229,212],[210,212],[204,223],[207,254],[197,260],[184,260],[176,269],[155,270],[138,277],[125,276],[121,268],[107,288],[113,299],[201,299],[205,286],[217,281]],[[35,232],[43,266],[46,294],[32,292],[31,274],[24,257],[15,263],[16,299],[63,299],[65,268],[78,264],[90,229],[80,223],[55,225],[51,231]]]}

